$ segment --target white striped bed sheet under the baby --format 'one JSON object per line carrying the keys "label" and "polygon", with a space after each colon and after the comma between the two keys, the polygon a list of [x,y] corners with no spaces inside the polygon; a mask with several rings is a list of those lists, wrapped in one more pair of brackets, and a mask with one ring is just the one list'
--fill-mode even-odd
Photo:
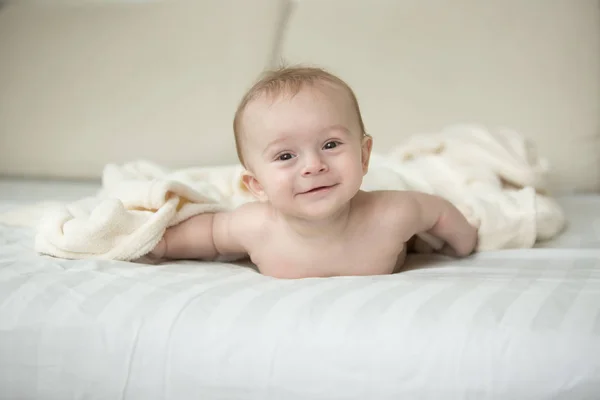
{"label": "white striped bed sheet under the baby", "polygon": [[[0,209],[96,188],[0,181]],[[561,203],[536,249],[296,281],[38,256],[0,225],[0,398],[595,398],[600,196]]]}

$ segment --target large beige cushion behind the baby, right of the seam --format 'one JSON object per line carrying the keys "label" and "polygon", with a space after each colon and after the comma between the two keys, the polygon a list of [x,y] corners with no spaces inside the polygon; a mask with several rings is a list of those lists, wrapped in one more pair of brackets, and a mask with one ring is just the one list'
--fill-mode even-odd
{"label": "large beige cushion behind the baby, right of the seam", "polygon": [[597,0],[300,0],[283,57],[355,89],[375,149],[448,124],[514,129],[556,188],[600,188]]}

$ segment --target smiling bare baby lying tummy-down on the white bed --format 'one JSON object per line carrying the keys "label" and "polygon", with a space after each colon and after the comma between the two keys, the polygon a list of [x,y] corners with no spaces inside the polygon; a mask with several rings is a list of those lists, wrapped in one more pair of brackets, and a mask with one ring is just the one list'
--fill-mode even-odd
{"label": "smiling bare baby lying tummy-down on the white bed", "polygon": [[243,183],[256,202],[169,228],[159,258],[249,257],[277,278],[391,274],[415,235],[467,256],[477,229],[441,197],[362,191],[373,139],[351,88],[317,68],[282,68],[259,80],[234,118]]}

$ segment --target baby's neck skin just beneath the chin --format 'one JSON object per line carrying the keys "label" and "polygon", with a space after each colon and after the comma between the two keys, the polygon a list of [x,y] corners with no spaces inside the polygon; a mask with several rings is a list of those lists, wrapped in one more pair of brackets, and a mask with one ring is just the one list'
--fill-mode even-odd
{"label": "baby's neck skin just beneath the chin", "polygon": [[343,237],[350,220],[351,202],[335,214],[320,220],[280,215],[292,233],[302,239],[322,240]]}

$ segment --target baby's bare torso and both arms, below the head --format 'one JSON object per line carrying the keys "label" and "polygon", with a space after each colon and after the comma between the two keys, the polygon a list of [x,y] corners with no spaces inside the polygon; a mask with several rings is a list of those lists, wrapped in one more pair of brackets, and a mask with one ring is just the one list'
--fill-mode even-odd
{"label": "baby's bare torso and both arms, below the head", "polygon": [[268,204],[250,203],[170,228],[154,255],[207,261],[247,255],[262,274],[293,279],[398,272],[417,233],[444,240],[441,252],[458,257],[471,254],[477,241],[456,208],[422,193],[361,191],[339,218],[337,226],[306,235]]}

